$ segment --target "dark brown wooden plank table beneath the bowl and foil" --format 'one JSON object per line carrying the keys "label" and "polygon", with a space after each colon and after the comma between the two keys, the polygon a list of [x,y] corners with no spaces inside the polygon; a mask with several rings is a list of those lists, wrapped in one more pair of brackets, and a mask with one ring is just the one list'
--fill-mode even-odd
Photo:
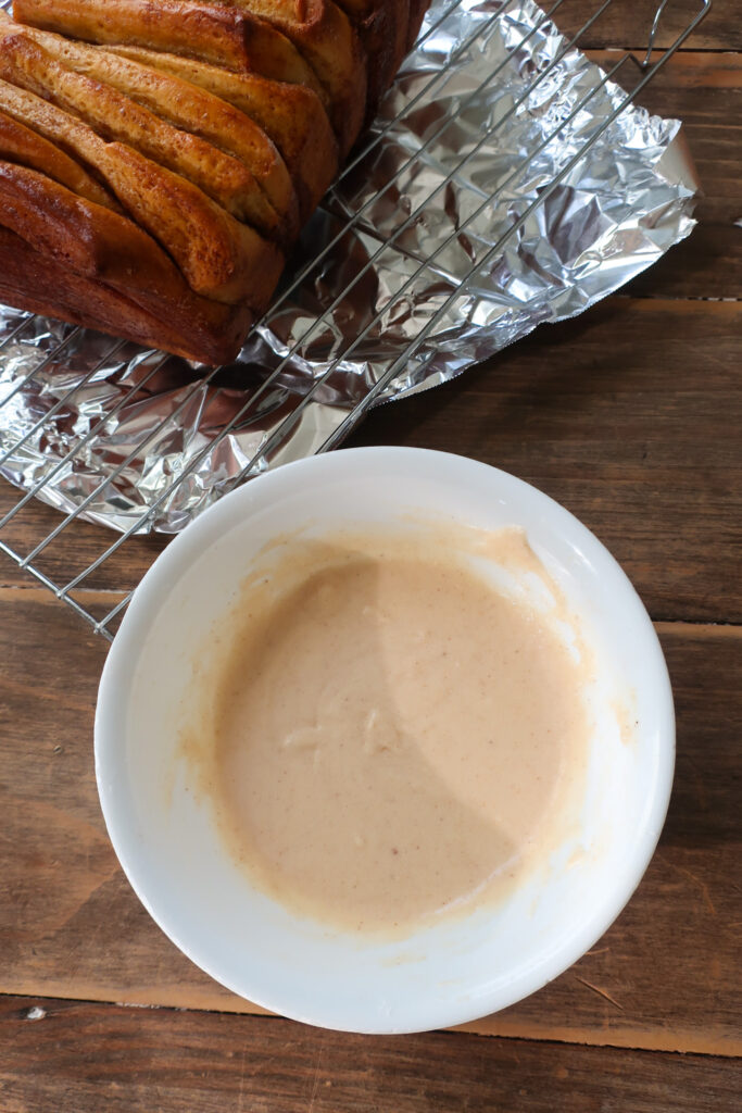
{"label": "dark brown wooden plank table beneath the bowl and foil", "polygon": [[[497,464],[570,508],[633,579],[672,674],[677,770],[660,847],[629,907],[556,982],[466,1033],[360,1037],[256,1015],[191,966],[130,892],[93,780],[107,647],[4,562],[0,1113],[740,1109],[736,4],[716,0],[691,49],[644,95],[686,121],[705,188],[691,239],[580,319],[383,408],[353,440]],[[591,46],[601,58],[622,41],[639,46],[643,31],[609,20]],[[0,484],[0,512],[13,498]],[[18,543],[28,551],[56,521],[33,505]],[[67,544],[68,564],[87,563],[100,531],[80,526]],[[158,548],[125,546],[91,584],[90,605],[108,609]]]}

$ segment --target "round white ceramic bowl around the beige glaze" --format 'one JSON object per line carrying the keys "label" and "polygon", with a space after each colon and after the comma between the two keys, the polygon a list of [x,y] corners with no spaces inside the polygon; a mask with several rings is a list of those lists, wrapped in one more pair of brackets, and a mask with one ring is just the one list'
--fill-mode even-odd
{"label": "round white ceramic bowl around the beige glaze", "polygon": [[[251,888],[210,816],[174,776],[174,708],[215,619],[271,538],[433,514],[520,525],[590,631],[605,708],[573,834],[496,909],[397,942],[359,942]],[[631,710],[621,737],[611,707]],[[600,718],[600,717],[598,717]],[[634,726],[635,722],[635,726]],[[650,619],[603,545],[534,487],[472,460],[357,449],[267,473],[202,514],[155,562],[110,650],[96,716],[108,830],[141,902],[218,982],[267,1008],[356,1032],[459,1024],[511,1005],[584,954],[622,909],[656,845],[670,796],[674,718]]]}

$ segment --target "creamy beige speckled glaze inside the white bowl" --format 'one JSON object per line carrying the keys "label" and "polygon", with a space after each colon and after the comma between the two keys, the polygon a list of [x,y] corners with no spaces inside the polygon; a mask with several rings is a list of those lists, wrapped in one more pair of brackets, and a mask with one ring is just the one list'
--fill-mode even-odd
{"label": "creamy beige speckled glaze inside the white bowl", "polygon": [[[235,607],[186,747],[257,884],[345,928],[512,887],[584,768],[574,648],[433,536],[278,546]],[[522,534],[488,546],[546,583]]]}

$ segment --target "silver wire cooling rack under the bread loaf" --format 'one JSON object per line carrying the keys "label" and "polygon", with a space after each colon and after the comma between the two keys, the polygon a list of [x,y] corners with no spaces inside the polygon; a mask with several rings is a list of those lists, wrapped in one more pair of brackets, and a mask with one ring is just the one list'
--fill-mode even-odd
{"label": "silver wire cooling rack under the bread loaf", "polygon": [[[441,11],[441,14],[436,17],[434,22],[426,24],[422,38],[426,39],[434,36],[441,24],[448,19],[455,9],[463,2],[464,0],[452,0],[452,2]],[[604,2],[600,3],[600,6],[596,4],[590,18],[585,20],[583,26],[565,43],[565,49],[581,47],[591,28],[607,11],[607,9],[614,4],[614,2],[615,0],[604,0]],[[580,164],[587,150],[600,139],[615,118],[634,101],[634,99],[641,93],[642,89],[652,80],[655,73],[666,65],[667,60],[705,17],[709,8],[711,7],[711,0],[698,0],[698,7],[692,13],[687,24],[680,31],[672,45],[663,50],[660,53],[660,57],[652,62],[651,57],[653,53],[654,40],[660,19],[666,3],[667,0],[662,0],[656,10],[646,50],[644,51],[642,49],[641,52],[622,52],[616,58],[616,61],[611,69],[603,76],[603,78],[601,78],[595,88],[588,91],[586,97],[580,101],[575,111],[571,114],[570,117],[562,120],[558,127],[544,142],[534,147],[534,149],[528,152],[528,158],[522,162],[520,167],[514,167],[514,171],[523,171],[527,169],[530,160],[535,159],[545,147],[546,142],[551,141],[552,138],[554,138],[570,124],[571,119],[581,108],[585,106],[587,100],[590,100],[590,97],[593,96],[598,88],[607,81],[619,80],[620,71],[623,71],[620,81],[622,87],[625,89],[625,73],[630,72],[634,80],[633,82],[629,82],[631,88],[625,92],[625,97],[620,100],[612,115],[605,119],[598,130],[594,131],[591,137],[585,140],[582,147],[575,152],[574,157],[571,158],[571,160],[563,167],[561,173],[558,173],[553,178],[551,184],[540,193],[538,197],[522,213],[518,219],[507,228],[507,230],[488,249],[486,255],[476,260],[468,274],[465,276],[462,287],[455,289],[441,304],[441,307],[437,309],[435,315],[427,321],[425,327],[418,333],[418,335],[409,342],[404,352],[402,352],[390,366],[386,368],[378,381],[373,385],[369,385],[366,393],[360,397],[355,407],[348,411],[347,415],[339,422],[339,424],[335,424],[329,435],[325,436],[320,443],[314,446],[314,451],[326,452],[343,442],[347,434],[358,424],[367,411],[384,393],[385,388],[399,374],[400,368],[403,368],[406,362],[415,355],[418,347],[435,329],[436,325],[445,317],[453,302],[461,297],[462,289],[465,289],[469,282],[474,282],[476,279],[477,274],[503,252],[511,237],[517,235],[518,230],[523,227],[534,210],[538,206],[543,206],[548,200],[550,196],[558,187],[560,183]],[[562,9],[565,4],[568,4],[568,0],[556,0],[556,2],[544,12],[543,22],[545,23],[547,20],[552,20],[554,17],[557,17],[560,9]],[[6,6],[7,0],[0,0],[0,7]],[[491,22],[498,19],[501,13],[502,9],[495,11],[492,16]],[[485,23],[484,27],[479,29],[478,33],[485,33],[489,26],[489,23]],[[464,43],[461,49],[466,49],[469,43]],[[512,55],[515,53],[516,49],[517,48],[513,48]],[[538,75],[538,77],[534,79],[533,83],[526,90],[526,93],[533,91],[535,85],[548,76],[548,70],[551,69],[552,67],[550,66],[545,72]],[[431,77],[431,83],[436,80],[436,75]],[[424,98],[425,91],[426,90],[423,89],[418,93],[421,99]],[[409,110],[409,105],[405,106],[405,110]],[[344,177],[353,173],[362,159],[368,155],[369,150],[378,144],[384,135],[390,129],[393,122],[394,121],[390,121],[379,131],[375,132],[365,145],[362,144],[362,149],[354,156],[349,165],[344,170]],[[462,162],[452,169],[445,180],[449,181],[453,179],[459,173],[465,161],[466,158],[463,158]],[[472,214],[472,216],[468,217],[466,221],[464,221],[464,225],[458,229],[458,232],[463,230],[463,227],[465,227],[466,224],[474,220],[487,205],[492,204],[497,194],[505,188],[505,185],[506,183],[502,184],[497,190],[484,198],[479,207]],[[436,195],[439,194],[439,185],[436,184]],[[427,200],[433,201],[433,194]],[[410,221],[421,215],[422,210],[425,208],[425,204],[427,204],[427,201],[410,214]],[[368,206],[364,206],[364,209],[367,207]],[[349,219],[348,225],[344,230],[352,227],[363,216],[364,209],[356,213]],[[327,250],[327,248],[325,248],[325,250]],[[280,295],[283,298],[287,297],[291,290],[298,286],[309,267],[315,263],[316,259],[311,260],[303,268],[301,273],[293,279],[288,289]],[[407,289],[414,284],[417,275],[422,273],[429,263],[431,259],[425,259],[421,263],[419,269],[415,272],[409,280],[406,282],[396,293],[395,297],[397,299],[404,298]],[[388,311],[389,304],[387,303],[384,306],[383,312],[388,313]],[[378,324],[380,315],[382,311],[379,311],[379,314],[377,314],[377,316],[369,323],[365,332],[368,332],[372,327]],[[316,328],[321,326],[321,324],[323,318],[319,318],[319,322],[310,323],[307,328]],[[32,315],[26,314],[20,317],[18,323],[14,324],[9,332],[0,336],[0,358],[2,358],[3,349],[7,348],[8,345],[12,344],[12,342],[21,333],[23,333],[24,329],[33,328],[33,325],[34,318]],[[32,371],[29,372],[27,378],[21,380],[20,383],[17,382],[10,393],[6,394],[4,397],[0,400],[0,410],[2,410],[3,406],[12,406],[14,397],[21,386],[26,385],[28,380],[33,378],[33,376],[40,375],[44,368],[49,367],[55,363],[55,361],[59,359],[78,332],[79,329],[70,327],[58,334],[57,338],[50,342],[49,347],[43,354],[42,362],[38,363]],[[259,451],[256,452],[249,461],[246,462],[245,466],[241,469],[239,475],[233,481],[231,485],[237,485],[239,482],[257,474],[259,471],[264,470],[266,461],[271,457],[275,459],[277,450],[280,449],[281,443],[290,436],[291,430],[295,429],[299,415],[318,395],[320,396],[323,386],[328,382],[337,365],[353,355],[355,345],[363,339],[364,334],[358,336],[355,341],[346,344],[343,351],[335,355],[326,372],[324,372],[320,377],[316,378],[303,395],[296,395],[290,411],[274,430],[267,442],[260,446]],[[101,345],[100,366],[103,366],[107,363],[110,364],[110,362],[115,359],[117,351],[122,346],[122,342],[101,338]],[[239,423],[243,422],[257,405],[259,405],[261,397],[265,397],[267,392],[269,392],[271,384],[280,375],[285,364],[288,363],[298,346],[299,345],[297,343],[296,346],[286,354],[279,365],[256,390],[246,392],[244,404],[224,425],[218,434],[217,442],[218,440],[227,437],[229,433],[234,429],[238,427]],[[49,524],[52,512],[48,510],[41,512],[38,503],[34,502],[34,499],[36,496],[43,498],[43,486],[46,483],[51,481],[56,473],[61,472],[66,467],[70,469],[76,463],[83,461],[86,443],[105,430],[108,423],[113,422],[117,414],[123,408],[123,406],[136,400],[138,393],[146,388],[147,384],[157,375],[166,358],[166,356],[161,356],[159,358],[150,359],[138,382],[131,386],[128,393],[120,395],[116,400],[115,404],[108,407],[103,406],[97,423],[86,434],[86,436],[82,437],[82,440],[77,442],[73,450],[70,450],[67,455],[61,457],[53,472],[51,474],[47,474],[42,480],[38,481],[33,486],[31,486],[30,490],[26,492],[18,492],[17,501],[4,514],[2,514],[2,516],[0,516],[0,551],[6,553],[7,556],[14,561],[20,568],[24,569],[30,575],[34,577],[39,583],[52,591],[57,598],[69,604],[75,611],[77,611],[78,614],[91,623],[97,633],[102,634],[108,640],[112,640],[129,599],[131,598],[133,588],[136,587],[136,583],[130,584],[129,582],[126,582],[127,577],[129,580],[137,579],[144,571],[144,568],[146,568],[147,563],[154,559],[158,549],[164,544],[161,539],[159,541],[152,541],[150,539],[147,543],[145,543],[141,539],[136,538],[135,535],[146,531],[148,523],[151,521],[159,506],[165,503],[166,500],[171,498],[172,493],[182,483],[188,481],[189,475],[198,466],[200,460],[205,457],[208,451],[212,451],[216,442],[211,442],[206,449],[204,449],[204,453],[201,455],[197,455],[185,470],[175,475],[167,489],[158,495],[158,499],[147,510],[142,511],[141,515],[126,529],[126,532],[123,532],[120,536],[117,536],[112,542],[109,542],[110,535],[106,534],[103,530],[83,524],[80,519],[85,514],[87,504],[89,504],[95,496],[99,495],[103,489],[109,486],[111,483],[115,483],[118,475],[120,475],[127,466],[129,460],[135,454],[141,453],[146,450],[146,441],[152,436],[151,431],[146,431],[142,435],[142,441],[136,445],[131,454],[127,455],[127,457],[118,463],[116,467],[112,467],[108,476],[96,487],[93,492],[91,492],[88,498],[76,505],[76,508],[63,518],[56,521],[51,528],[49,528]],[[95,375],[95,367],[91,368],[86,378],[92,377],[92,375]],[[217,370],[210,371],[205,376],[206,382],[214,380],[217,373]],[[179,405],[168,414],[166,418],[167,422],[174,424],[178,422],[179,416],[182,415],[189,403],[191,403],[196,397],[199,388],[202,388],[205,380],[200,380],[199,382],[192,384],[191,390],[186,392]],[[39,416],[37,424],[31,430],[27,429],[22,435],[19,435],[18,440],[10,445],[6,445],[3,452],[0,453],[0,466],[6,460],[11,457],[18,449],[22,447],[23,441],[28,440],[32,435],[37,436],[40,431],[43,432],[46,423],[49,423],[57,414],[65,412],[65,407],[68,406],[72,400],[73,392],[79,390],[79,382],[77,382],[68,393],[60,394],[53,406]],[[6,493],[10,490],[10,487],[3,487],[3,492]],[[85,534],[85,536],[82,536],[82,534]],[[98,539],[97,543],[96,539]],[[122,545],[132,546],[135,544],[139,545],[140,550],[137,553],[136,561],[133,561],[138,571],[132,573],[131,569],[127,568],[127,565],[117,558],[117,554],[120,552]],[[142,545],[145,546],[144,549],[141,549]],[[90,554],[93,550],[97,552],[97,555],[91,558]],[[128,551],[131,551],[131,549]],[[111,590],[112,587],[116,589],[115,593]],[[122,592],[123,598],[121,598]],[[115,604],[111,605],[113,601]]]}

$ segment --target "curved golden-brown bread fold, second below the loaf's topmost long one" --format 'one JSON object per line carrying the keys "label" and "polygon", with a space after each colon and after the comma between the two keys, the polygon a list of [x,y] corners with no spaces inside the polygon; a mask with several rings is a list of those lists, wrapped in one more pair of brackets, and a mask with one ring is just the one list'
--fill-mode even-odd
{"label": "curved golden-brown bread fold, second below the loaf's topmost long one", "polygon": [[251,117],[275,142],[294,178],[301,219],[315,209],[337,174],[338,149],[311,89],[144,47],[111,47],[111,51],[198,86]]}

